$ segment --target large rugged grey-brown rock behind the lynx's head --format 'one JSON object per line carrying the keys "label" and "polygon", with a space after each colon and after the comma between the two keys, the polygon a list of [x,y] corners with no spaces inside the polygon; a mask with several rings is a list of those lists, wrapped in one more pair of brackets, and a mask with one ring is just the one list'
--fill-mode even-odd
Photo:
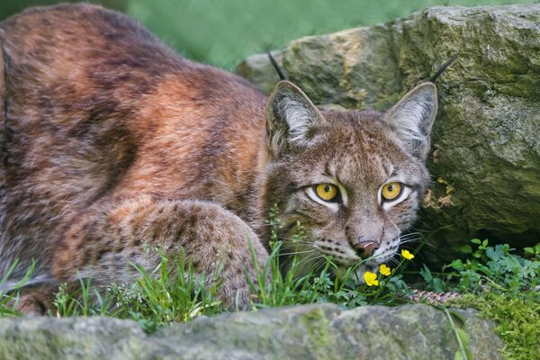
{"label": "large rugged grey-brown rock behind the lynx's head", "polygon": [[[315,103],[379,110],[454,55],[437,80],[434,182],[418,224],[436,245],[425,258],[438,264],[473,237],[515,247],[540,240],[540,4],[434,7],[276,53]],[[238,71],[268,89],[276,77],[263,57]]]}

